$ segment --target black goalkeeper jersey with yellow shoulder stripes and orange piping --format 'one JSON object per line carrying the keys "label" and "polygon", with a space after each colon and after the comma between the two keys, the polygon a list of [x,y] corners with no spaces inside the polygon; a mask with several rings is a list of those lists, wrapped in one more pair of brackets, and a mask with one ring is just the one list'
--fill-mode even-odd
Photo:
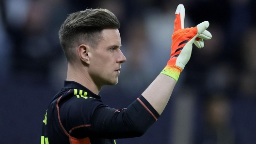
{"label": "black goalkeeper jersey with yellow shoulder stripes and orange piping", "polygon": [[86,87],[65,81],[43,120],[41,144],[116,144],[138,137],[160,116],[140,96],[127,108],[110,108]]}

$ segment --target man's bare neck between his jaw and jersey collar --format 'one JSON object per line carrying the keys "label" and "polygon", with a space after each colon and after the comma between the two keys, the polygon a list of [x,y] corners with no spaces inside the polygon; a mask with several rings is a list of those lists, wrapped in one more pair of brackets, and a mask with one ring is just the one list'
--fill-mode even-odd
{"label": "man's bare neck between his jaw and jersey collar", "polygon": [[77,82],[80,85],[91,90],[96,95],[99,94],[99,91],[101,89],[101,87],[96,86],[96,84],[93,82],[88,71],[84,67],[81,67],[81,66],[75,66],[75,65],[68,63],[66,80]]}

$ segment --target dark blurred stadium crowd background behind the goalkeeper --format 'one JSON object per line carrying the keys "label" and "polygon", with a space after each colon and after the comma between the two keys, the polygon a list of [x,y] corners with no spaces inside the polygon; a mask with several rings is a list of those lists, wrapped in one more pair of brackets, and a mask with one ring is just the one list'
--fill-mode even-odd
{"label": "dark blurred stadium crowd background behind the goalkeeper", "polygon": [[48,103],[66,76],[58,30],[68,14],[99,7],[119,19],[127,62],[119,83],[100,95],[123,108],[169,60],[180,3],[185,27],[207,20],[212,39],[193,47],[159,120],[117,144],[255,144],[256,0],[0,0],[1,143],[39,143]]}

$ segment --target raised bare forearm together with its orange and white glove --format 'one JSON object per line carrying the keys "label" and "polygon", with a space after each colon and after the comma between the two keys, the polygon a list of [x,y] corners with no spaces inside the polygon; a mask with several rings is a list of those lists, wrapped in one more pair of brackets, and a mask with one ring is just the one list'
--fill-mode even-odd
{"label": "raised bare forearm together with its orange and white glove", "polygon": [[178,5],[175,14],[171,58],[158,77],[142,94],[159,115],[171,97],[180,72],[191,57],[192,44],[195,43],[198,48],[202,48],[204,46],[203,39],[211,39],[210,32],[206,30],[209,26],[208,21],[202,22],[196,27],[184,29],[185,8],[182,4]]}

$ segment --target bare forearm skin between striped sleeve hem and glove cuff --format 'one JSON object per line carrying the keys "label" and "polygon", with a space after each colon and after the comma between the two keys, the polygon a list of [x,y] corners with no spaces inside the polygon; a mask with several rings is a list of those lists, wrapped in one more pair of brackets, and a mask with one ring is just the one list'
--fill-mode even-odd
{"label": "bare forearm skin between striped sleeve hem and glove cuff", "polygon": [[173,92],[176,80],[165,74],[158,77],[142,93],[159,115],[163,112]]}

